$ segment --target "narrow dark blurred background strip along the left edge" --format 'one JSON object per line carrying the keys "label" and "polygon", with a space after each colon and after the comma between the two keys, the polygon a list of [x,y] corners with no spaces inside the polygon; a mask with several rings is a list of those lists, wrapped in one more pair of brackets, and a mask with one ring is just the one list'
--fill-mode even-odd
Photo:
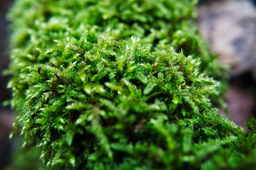
{"label": "narrow dark blurred background strip along the left edge", "polygon": [[3,76],[3,70],[8,66],[8,22],[6,11],[10,0],[0,0],[0,169],[8,164],[11,153],[11,141],[8,136],[12,129],[13,114],[10,108],[3,106],[3,101],[10,99],[11,91],[6,89],[9,77]]}

